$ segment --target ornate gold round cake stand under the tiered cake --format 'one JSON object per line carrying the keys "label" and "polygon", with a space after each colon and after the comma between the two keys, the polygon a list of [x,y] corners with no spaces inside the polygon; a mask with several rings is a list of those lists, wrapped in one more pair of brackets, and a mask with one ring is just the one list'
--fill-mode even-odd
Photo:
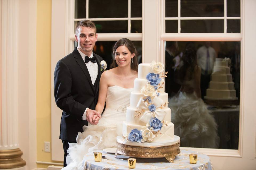
{"label": "ornate gold round cake stand under the tiered cake", "polygon": [[180,142],[168,146],[131,146],[117,141],[115,157],[120,154],[136,158],[166,158],[173,162],[175,156],[181,152],[179,146]]}

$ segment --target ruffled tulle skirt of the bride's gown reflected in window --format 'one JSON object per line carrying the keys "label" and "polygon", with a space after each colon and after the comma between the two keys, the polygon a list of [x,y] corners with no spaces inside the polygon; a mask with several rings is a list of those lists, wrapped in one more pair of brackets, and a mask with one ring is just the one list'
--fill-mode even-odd
{"label": "ruffled tulle skirt of the bride's gown reflected in window", "polygon": [[179,92],[171,98],[171,122],[182,147],[218,148],[217,124],[206,104],[195,93]]}

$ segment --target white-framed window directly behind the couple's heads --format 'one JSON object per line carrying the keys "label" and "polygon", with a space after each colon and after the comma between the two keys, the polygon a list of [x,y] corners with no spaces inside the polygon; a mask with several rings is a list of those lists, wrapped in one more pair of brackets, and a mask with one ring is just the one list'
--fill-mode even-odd
{"label": "white-framed window directly behind the couple's heads", "polygon": [[[70,0],[68,47],[71,52],[75,42],[75,25],[83,20],[93,21],[97,28],[98,41],[93,52],[100,55],[110,66],[113,60],[112,47],[121,38],[133,41],[137,48],[138,61],[141,63],[142,48],[142,0]],[[109,67],[107,68],[109,69]]]}

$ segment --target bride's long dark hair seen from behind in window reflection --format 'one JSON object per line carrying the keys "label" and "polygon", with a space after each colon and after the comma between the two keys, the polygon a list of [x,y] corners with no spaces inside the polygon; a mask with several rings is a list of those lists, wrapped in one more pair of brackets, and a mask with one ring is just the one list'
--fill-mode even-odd
{"label": "bride's long dark hair seen from behind in window reflection", "polygon": [[197,65],[197,49],[195,48],[195,45],[192,42],[189,42],[186,44],[181,61],[183,63],[179,69],[179,78],[181,82],[184,82],[185,78],[186,80],[191,80],[195,66],[198,66]]}

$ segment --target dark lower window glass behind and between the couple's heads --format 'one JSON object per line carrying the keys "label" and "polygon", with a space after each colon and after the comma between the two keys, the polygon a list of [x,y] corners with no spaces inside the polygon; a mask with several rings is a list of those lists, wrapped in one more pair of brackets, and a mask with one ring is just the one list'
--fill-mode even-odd
{"label": "dark lower window glass behind and between the couple's heads", "polygon": [[[141,56],[142,42],[141,41],[132,41],[132,42],[135,45],[136,50],[137,50],[138,63],[141,63],[141,61],[142,61],[142,56]],[[115,57],[113,52],[112,52],[112,48],[113,48],[115,43],[116,43],[116,41],[97,41],[94,48],[93,48],[93,52],[95,54],[98,54],[99,56],[101,56],[103,58],[103,60],[106,61],[107,70],[110,69],[110,64],[112,63],[112,61]],[[78,46],[76,41],[74,41],[74,46],[75,47]]]}

